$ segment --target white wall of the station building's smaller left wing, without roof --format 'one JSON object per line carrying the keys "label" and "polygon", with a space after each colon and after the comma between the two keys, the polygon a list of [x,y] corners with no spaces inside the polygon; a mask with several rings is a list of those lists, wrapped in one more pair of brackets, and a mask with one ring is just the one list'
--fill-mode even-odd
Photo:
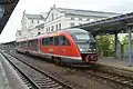
{"label": "white wall of the station building's smaller left wing, without roof", "polygon": [[[40,18],[28,18],[27,13],[23,12],[23,17],[21,20],[21,38],[30,38],[33,36],[37,36],[39,33],[39,31],[35,28],[35,26],[39,26],[41,23],[44,23],[44,19],[40,19]],[[18,39],[18,37],[17,37]]]}

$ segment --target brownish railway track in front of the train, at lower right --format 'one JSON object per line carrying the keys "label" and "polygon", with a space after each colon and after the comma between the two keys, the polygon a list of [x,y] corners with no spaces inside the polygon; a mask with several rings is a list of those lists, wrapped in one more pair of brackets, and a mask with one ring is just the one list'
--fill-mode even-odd
{"label": "brownish railway track in front of the train, at lower right", "polygon": [[133,89],[133,78],[131,77],[125,77],[125,76],[102,71],[102,70],[95,70],[95,71],[88,70],[86,73],[94,76],[96,78],[112,81],[115,85],[123,87],[124,89],[125,88]]}

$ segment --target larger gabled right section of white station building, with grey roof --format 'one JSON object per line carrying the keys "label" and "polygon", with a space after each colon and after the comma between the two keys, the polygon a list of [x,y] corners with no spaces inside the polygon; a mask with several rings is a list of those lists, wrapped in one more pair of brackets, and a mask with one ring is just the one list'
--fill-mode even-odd
{"label": "larger gabled right section of white station building, with grey roof", "polygon": [[119,13],[57,8],[55,6],[53,6],[45,18],[43,33],[53,32],[63,28],[80,26],[83,23],[89,23]]}

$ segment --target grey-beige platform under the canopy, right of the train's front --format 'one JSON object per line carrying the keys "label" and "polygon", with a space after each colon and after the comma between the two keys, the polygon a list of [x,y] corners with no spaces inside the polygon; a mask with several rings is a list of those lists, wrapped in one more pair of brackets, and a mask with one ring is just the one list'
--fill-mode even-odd
{"label": "grey-beige platform under the canopy, right of the train's front", "polygon": [[121,72],[130,71],[133,76],[133,61],[130,63],[129,58],[115,59],[114,57],[104,57],[99,59],[98,65],[101,67],[101,69],[109,68],[112,71],[117,69],[121,70]]}

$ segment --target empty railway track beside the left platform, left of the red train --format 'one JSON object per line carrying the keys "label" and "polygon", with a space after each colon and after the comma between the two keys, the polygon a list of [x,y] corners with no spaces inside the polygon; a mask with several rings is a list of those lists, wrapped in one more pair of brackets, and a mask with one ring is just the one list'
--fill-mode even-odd
{"label": "empty railway track beside the left platform, left of the red train", "polygon": [[17,72],[21,75],[29,89],[73,89],[71,86],[27,62],[20,61],[7,53],[2,55],[17,69]]}

